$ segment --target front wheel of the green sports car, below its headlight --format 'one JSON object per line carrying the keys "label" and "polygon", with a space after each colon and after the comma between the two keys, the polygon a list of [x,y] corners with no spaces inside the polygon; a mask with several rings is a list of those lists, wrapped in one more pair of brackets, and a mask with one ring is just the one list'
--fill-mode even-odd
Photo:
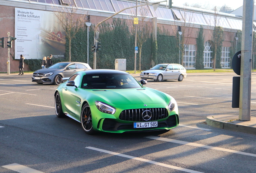
{"label": "front wheel of the green sports car, below its headlight", "polygon": [[93,130],[93,122],[91,117],[91,109],[86,103],[81,112],[81,126],[86,134],[93,135],[95,131]]}

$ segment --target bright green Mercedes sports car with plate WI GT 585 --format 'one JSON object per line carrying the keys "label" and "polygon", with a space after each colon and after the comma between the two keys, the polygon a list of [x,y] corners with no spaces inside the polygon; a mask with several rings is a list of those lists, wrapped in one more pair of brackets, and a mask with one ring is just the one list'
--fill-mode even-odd
{"label": "bright green Mercedes sports car with plate WI GT 585", "polygon": [[71,117],[85,133],[123,133],[173,129],[178,106],[170,95],[144,87],[119,70],[86,70],[73,74],[56,89],[57,117]]}

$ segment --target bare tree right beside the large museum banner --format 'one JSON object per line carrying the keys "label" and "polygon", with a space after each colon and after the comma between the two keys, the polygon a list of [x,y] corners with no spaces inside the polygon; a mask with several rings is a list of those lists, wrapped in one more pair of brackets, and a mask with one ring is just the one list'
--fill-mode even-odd
{"label": "bare tree right beside the large museum banner", "polygon": [[52,6],[52,8],[58,18],[58,23],[66,32],[69,43],[69,61],[71,61],[71,40],[88,21],[88,15],[78,10],[75,0],[61,0],[61,2],[61,7]]}

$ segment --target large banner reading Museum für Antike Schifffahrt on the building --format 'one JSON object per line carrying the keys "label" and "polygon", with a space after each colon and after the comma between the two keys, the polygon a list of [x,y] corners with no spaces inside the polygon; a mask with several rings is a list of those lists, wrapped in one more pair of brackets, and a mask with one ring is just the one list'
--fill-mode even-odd
{"label": "large banner reading Museum f\u00fcr Antike Schifffahrt on the building", "polygon": [[65,57],[65,31],[58,23],[54,12],[15,8],[15,59]]}

